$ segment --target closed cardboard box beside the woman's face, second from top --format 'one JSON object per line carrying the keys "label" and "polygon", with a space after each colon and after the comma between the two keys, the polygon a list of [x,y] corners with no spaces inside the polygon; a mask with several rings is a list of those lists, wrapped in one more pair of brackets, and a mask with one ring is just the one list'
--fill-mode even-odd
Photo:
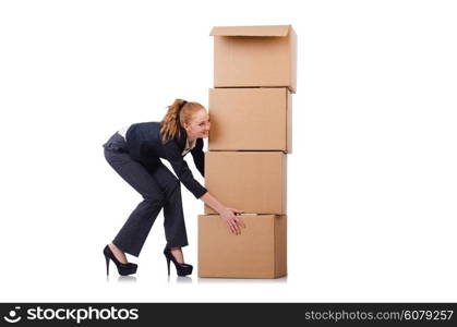
{"label": "closed cardboard box beside the woman's face, second from top", "polygon": [[288,88],[209,89],[209,150],[292,150]]}

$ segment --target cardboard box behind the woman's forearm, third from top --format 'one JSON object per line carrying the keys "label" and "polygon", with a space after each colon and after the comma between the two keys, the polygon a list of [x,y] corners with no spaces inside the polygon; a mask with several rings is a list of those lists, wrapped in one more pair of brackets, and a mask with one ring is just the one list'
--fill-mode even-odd
{"label": "cardboard box behind the woman's forearm, third from top", "polygon": [[[245,214],[287,214],[287,155],[281,152],[207,152],[205,186]],[[205,205],[205,214],[217,214]]]}

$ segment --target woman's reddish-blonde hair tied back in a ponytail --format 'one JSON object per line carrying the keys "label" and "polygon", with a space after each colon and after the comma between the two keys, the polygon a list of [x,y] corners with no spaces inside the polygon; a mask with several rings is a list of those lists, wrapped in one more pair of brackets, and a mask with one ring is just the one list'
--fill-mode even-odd
{"label": "woman's reddish-blonde hair tied back in a ponytail", "polygon": [[168,111],[161,120],[160,129],[161,141],[164,143],[181,136],[180,128],[189,123],[195,112],[205,109],[199,102],[188,102],[183,99],[176,99],[167,108]]}

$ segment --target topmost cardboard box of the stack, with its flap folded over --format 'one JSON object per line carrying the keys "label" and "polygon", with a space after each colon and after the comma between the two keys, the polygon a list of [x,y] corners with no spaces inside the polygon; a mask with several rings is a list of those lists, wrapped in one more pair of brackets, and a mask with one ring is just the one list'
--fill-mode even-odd
{"label": "topmost cardboard box of the stack, with its flap folded over", "polygon": [[215,87],[297,89],[297,35],[290,25],[213,27]]}

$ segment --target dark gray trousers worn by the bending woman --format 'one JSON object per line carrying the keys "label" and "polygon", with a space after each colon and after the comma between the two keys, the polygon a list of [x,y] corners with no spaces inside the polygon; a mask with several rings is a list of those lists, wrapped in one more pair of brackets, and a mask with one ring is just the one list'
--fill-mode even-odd
{"label": "dark gray trousers worn by the bending woman", "polygon": [[108,164],[143,196],[143,201],[132,211],[112,243],[124,253],[139,256],[154,221],[164,208],[167,245],[188,245],[181,184],[175,174],[159,158],[154,170],[133,160],[124,138],[118,133],[104,144],[104,148]]}

